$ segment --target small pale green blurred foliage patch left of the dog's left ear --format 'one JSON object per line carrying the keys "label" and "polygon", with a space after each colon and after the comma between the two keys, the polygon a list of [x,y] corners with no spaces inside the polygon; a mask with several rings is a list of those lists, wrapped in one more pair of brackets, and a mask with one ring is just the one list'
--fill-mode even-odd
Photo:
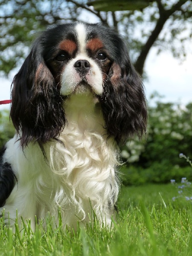
{"label": "small pale green blurred foliage patch left of the dog's left ear", "polygon": [[9,119],[9,111],[0,111],[0,148],[14,136],[15,128]]}

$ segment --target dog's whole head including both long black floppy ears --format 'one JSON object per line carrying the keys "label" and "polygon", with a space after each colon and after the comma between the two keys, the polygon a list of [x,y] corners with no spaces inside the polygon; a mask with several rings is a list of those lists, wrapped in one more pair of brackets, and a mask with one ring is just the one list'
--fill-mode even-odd
{"label": "dog's whole head including both long black floppy ears", "polygon": [[99,100],[117,143],[145,132],[143,84],[120,36],[101,24],[52,26],[34,42],[12,83],[11,117],[21,145],[58,138],[66,122],[64,98],[87,90]]}

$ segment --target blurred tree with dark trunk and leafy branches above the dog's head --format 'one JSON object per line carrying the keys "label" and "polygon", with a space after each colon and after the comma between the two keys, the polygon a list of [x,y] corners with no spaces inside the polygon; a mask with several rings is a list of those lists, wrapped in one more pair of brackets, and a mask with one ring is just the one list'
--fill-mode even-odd
{"label": "blurred tree with dark trunk and leafy branches above the dog's head", "polygon": [[[93,2],[88,3],[94,5]],[[192,17],[192,0],[146,2],[147,5],[139,10],[129,8],[131,10],[125,11],[124,8],[122,12],[114,9],[112,12],[102,12],[88,6],[85,0],[0,0],[1,73],[7,75],[20,65],[37,32],[53,23],[87,21],[87,15],[92,15],[94,21],[106,23],[125,35],[131,58],[141,75],[151,47],[157,47],[158,52],[169,49],[175,57],[185,57],[186,42],[192,37],[188,27]],[[118,9],[118,3],[116,6]]]}

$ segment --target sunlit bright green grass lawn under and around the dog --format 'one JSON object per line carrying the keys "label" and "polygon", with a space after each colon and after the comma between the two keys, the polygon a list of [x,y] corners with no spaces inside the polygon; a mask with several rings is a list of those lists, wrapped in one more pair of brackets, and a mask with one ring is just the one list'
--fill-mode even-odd
{"label": "sunlit bright green grass lawn under and around the dog", "polygon": [[172,202],[177,189],[171,185],[123,187],[119,196],[119,216],[111,230],[101,228],[95,218],[77,232],[47,231],[30,223],[20,233],[0,222],[0,255],[74,256],[187,256],[192,255],[192,205]]}

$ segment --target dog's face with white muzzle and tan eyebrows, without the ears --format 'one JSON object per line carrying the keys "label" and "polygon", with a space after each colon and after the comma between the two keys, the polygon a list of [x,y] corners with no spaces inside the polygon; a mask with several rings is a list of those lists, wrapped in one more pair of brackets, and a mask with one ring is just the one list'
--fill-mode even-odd
{"label": "dog's face with white muzzle and tan eyebrows, without the ears", "polygon": [[102,94],[111,60],[98,31],[93,33],[83,23],[65,33],[61,29],[61,38],[50,54],[47,63],[63,96],[88,89]]}

